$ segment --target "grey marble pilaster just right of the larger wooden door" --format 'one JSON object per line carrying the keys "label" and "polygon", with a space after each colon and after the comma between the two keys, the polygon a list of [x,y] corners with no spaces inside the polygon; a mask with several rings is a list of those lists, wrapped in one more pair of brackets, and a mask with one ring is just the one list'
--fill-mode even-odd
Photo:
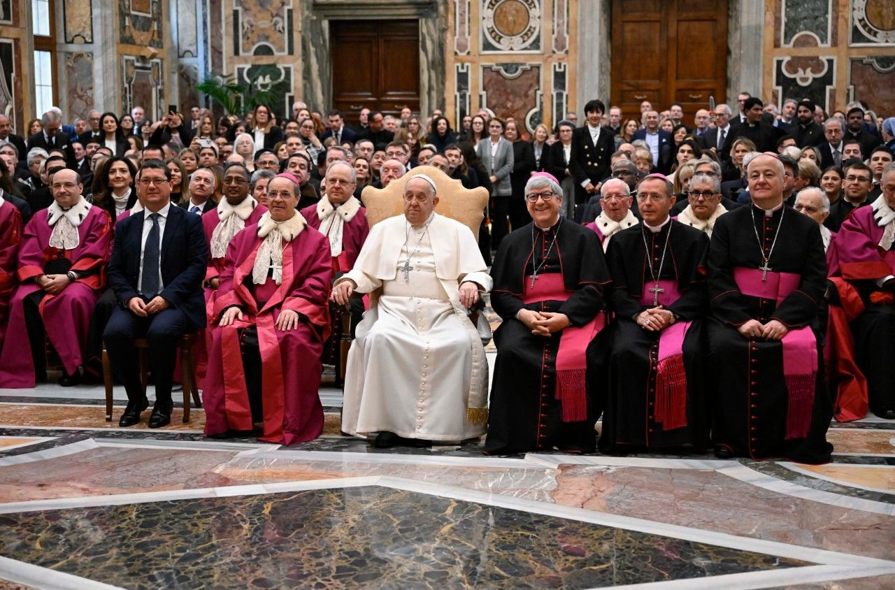
{"label": "grey marble pilaster just right of the larger wooden door", "polygon": [[730,0],[728,10],[728,102],[737,112],[737,94],[761,97],[763,91],[764,3]]}

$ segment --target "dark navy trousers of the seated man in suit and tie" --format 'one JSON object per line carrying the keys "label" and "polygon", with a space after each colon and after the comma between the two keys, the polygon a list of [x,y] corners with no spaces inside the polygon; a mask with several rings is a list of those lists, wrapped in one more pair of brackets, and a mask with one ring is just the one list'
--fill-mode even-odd
{"label": "dark navy trousers of the seated man in suit and tie", "polygon": [[186,316],[174,307],[146,318],[122,307],[115,308],[106,324],[103,339],[106,341],[109,363],[124,383],[128,400],[139,402],[143,398],[140,362],[133,339],[146,338],[149,342],[149,363],[156,382],[156,402],[170,405],[177,342],[188,331],[190,324]]}

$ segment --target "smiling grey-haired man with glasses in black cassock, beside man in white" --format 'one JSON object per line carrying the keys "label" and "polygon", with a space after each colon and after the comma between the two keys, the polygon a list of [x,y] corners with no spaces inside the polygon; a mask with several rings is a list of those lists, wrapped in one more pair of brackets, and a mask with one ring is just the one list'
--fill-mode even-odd
{"label": "smiling grey-haired man with glasses in black cassock, beside man in white", "polygon": [[533,223],[503,239],[491,268],[503,323],[485,453],[593,452],[600,410],[585,389],[584,353],[603,324],[606,261],[596,234],[560,216],[556,178],[533,175],[525,197]]}

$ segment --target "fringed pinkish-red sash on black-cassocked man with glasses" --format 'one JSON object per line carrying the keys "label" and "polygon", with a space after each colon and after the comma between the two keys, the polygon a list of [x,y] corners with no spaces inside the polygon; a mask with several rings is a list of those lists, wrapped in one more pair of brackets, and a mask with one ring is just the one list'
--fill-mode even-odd
{"label": "fringed pinkish-red sash on black-cassocked man with glasses", "polygon": [[[524,278],[524,304],[539,301],[567,301],[575,291],[567,291],[562,275],[551,272],[538,275],[531,288],[530,277]],[[557,351],[557,390],[556,398],[562,405],[563,422],[581,422],[587,420],[587,396],[584,387],[584,376],[587,361],[584,356],[587,345],[606,325],[606,318],[600,312],[591,321],[580,328],[572,326],[562,330]]]}

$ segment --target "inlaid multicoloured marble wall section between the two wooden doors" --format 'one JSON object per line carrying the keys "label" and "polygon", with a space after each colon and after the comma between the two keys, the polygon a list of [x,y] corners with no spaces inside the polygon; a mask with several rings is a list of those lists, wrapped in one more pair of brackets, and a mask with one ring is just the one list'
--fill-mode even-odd
{"label": "inlaid multicoloured marble wall section between the two wooden doors", "polygon": [[450,4],[447,112],[455,121],[484,107],[530,135],[575,109],[578,0]]}

